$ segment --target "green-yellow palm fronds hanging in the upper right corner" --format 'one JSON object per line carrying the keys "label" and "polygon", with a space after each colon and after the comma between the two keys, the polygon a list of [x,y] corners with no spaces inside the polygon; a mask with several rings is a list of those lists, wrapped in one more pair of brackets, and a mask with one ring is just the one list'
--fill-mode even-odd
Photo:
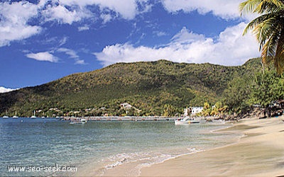
{"label": "green-yellow palm fronds hanging in the upper right corner", "polygon": [[264,64],[273,62],[278,74],[284,72],[284,0],[247,0],[239,5],[243,13],[259,13],[245,28],[252,30],[260,44]]}

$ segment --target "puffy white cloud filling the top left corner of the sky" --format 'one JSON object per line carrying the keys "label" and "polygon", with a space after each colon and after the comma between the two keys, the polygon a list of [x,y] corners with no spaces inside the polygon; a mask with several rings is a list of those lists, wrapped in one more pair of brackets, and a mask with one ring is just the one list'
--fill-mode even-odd
{"label": "puffy white cloud filling the top left corner of the sky", "polygon": [[28,25],[28,20],[37,14],[38,6],[27,1],[0,3],[0,47],[40,33],[40,26]]}

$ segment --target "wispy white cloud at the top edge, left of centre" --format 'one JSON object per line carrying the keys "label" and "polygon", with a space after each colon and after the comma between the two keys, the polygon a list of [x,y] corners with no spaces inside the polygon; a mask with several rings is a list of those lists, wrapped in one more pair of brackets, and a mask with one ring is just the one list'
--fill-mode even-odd
{"label": "wispy white cloud at the top edge, left of centre", "polygon": [[56,5],[50,4],[45,10],[45,15],[48,16],[48,21],[57,20],[60,23],[72,24],[81,21],[83,18],[94,18],[96,16],[89,11],[88,6],[99,7],[99,18],[102,19],[103,23],[107,23],[117,16],[131,20],[137,14],[151,10],[151,4],[148,3],[148,0],[60,0]]}

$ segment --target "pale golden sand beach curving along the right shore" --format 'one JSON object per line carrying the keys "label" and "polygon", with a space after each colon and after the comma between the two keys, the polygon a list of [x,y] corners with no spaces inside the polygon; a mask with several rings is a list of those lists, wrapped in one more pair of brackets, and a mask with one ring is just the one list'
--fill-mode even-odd
{"label": "pale golden sand beach curving along the right shore", "polygon": [[241,132],[244,136],[225,147],[145,167],[141,169],[140,176],[284,175],[283,117],[241,120],[221,131]]}

